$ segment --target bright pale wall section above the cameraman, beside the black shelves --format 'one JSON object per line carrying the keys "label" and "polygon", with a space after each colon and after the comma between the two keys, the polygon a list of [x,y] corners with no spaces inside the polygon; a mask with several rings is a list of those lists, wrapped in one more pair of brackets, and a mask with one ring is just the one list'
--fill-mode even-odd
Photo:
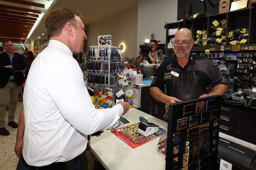
{"label": "bright pale wall section above the cameraman, beside the black shelves", "polygon": [[138,3],[138,36],[139,45],[151,38],[165,42],[166,30],[163,27],[168,22],[177,21],[178,0],[139,0]]}

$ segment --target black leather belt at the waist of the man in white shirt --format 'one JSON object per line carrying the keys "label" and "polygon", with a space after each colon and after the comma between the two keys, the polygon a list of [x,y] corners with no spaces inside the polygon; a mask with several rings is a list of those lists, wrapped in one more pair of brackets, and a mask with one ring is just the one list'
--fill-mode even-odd
{"label": "black leather belt at the waist of the man in white shirt", "polygon": [[81,157],[81,155],[78,155],[77,157],[75,157],[67,162],[56,162],[56,163],[52,163],[50,165],[45,165],[45,166],[40,166],[40,167],[28,165],[26,163],[26,161],[24,160],[23,156],[21,156],[20,159],[24,163],[24,165],[26,165],[31,170],[65,170],[65,169],[69,168],[71,165],[73,165],[74,163],[76,163],[76,161],[78,161],[78,159],[80,159],[80,157]]}

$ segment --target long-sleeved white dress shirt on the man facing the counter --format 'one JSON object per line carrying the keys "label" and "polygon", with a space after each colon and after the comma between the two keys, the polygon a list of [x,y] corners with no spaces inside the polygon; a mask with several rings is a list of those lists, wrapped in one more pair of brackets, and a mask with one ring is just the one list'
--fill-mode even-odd
{"label": "long-sleeved white dress shirt on the man facing the counter", "polygon": [[96,110],[72,52],[50,40],[33,61],[24,90],[23,157],[32,166],[65,162],[82,154],[87,135],[112,126],[121,104]]}

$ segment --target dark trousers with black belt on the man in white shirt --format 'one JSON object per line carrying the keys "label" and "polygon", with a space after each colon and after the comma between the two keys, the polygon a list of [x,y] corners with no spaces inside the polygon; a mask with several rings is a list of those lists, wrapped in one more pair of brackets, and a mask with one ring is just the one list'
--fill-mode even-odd
{"label": "dark trousers with black belt on the man in white shirt", "polygon": [[[21,155],[16,170],[50,170],[50,169],[44,166],[42,167],[30,166],[25,162],[23,156]],[[68,168],[62,169],[62,168],[54,167],[54,170],[83,170],[81,157],[79,156],[79,158],[75,161],[75,163],[69,166]]]}

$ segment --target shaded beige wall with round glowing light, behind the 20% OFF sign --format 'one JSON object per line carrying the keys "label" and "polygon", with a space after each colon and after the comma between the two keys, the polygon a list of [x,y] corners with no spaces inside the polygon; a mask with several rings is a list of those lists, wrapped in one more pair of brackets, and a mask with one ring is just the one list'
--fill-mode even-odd
{"label": "shaded beige wall with round glowing light, behind the 20% OFF sign", "polygon": [[122,52],[122,57],[137,57],[137,16],[138,7],[122,11],[114,16],[97,21],[86,26],[85,46],[97,46],[98,35],[111,35],[112,46],[117,46],[124,42],[126,49]]}

